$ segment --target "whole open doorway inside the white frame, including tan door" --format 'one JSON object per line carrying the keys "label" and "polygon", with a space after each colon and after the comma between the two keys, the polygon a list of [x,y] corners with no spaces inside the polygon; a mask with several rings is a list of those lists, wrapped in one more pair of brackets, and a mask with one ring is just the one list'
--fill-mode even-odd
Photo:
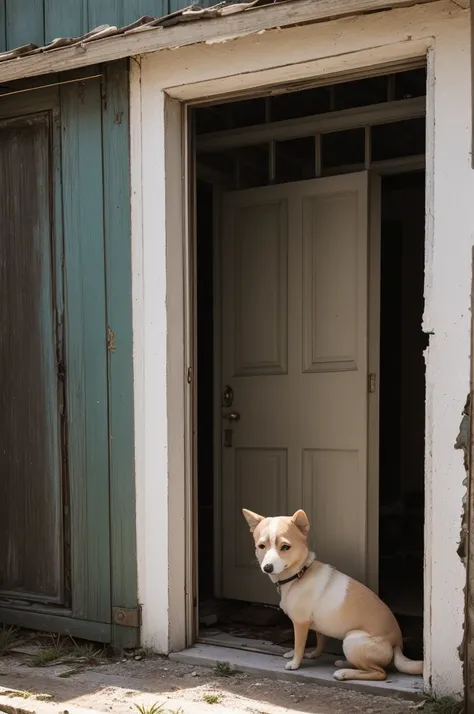
{"label": "whole open doorway inside the white frame, including tan door", "polygon": [[[240,508],[278,515],[303,507],[318,557],[377,589],[400,621],[407,655],[420,656],[425,85],[425,69],[417,68],[193,110],[201,641],[262,652],[292,646],[291,623],[252,562]],[[363,315],[377,290],[369,288],[368,267],[360,267],[375,240],[372,175],[380,215],[380,363],[377,429],[367,445],[366,426],[357,431],[354,424],[367,425],[373,399],[364,352],[374,335]],[[367,223],[355,229],[363,206]],[[329,262],[315,288],[323,259]],[[336,276],[330,280],[328,265]],[[366,292],[356,294],[364,281]],[[319,320],[316,337],[305,322],[310,313],[311,324]],[[326,419],[321,405],[331,400]],[[296,423],[304,432],[310,422],[313,430],[300,441],[291,437],[287,448],[285,430]],[[332,438],[336,431],[345,441]]]}

